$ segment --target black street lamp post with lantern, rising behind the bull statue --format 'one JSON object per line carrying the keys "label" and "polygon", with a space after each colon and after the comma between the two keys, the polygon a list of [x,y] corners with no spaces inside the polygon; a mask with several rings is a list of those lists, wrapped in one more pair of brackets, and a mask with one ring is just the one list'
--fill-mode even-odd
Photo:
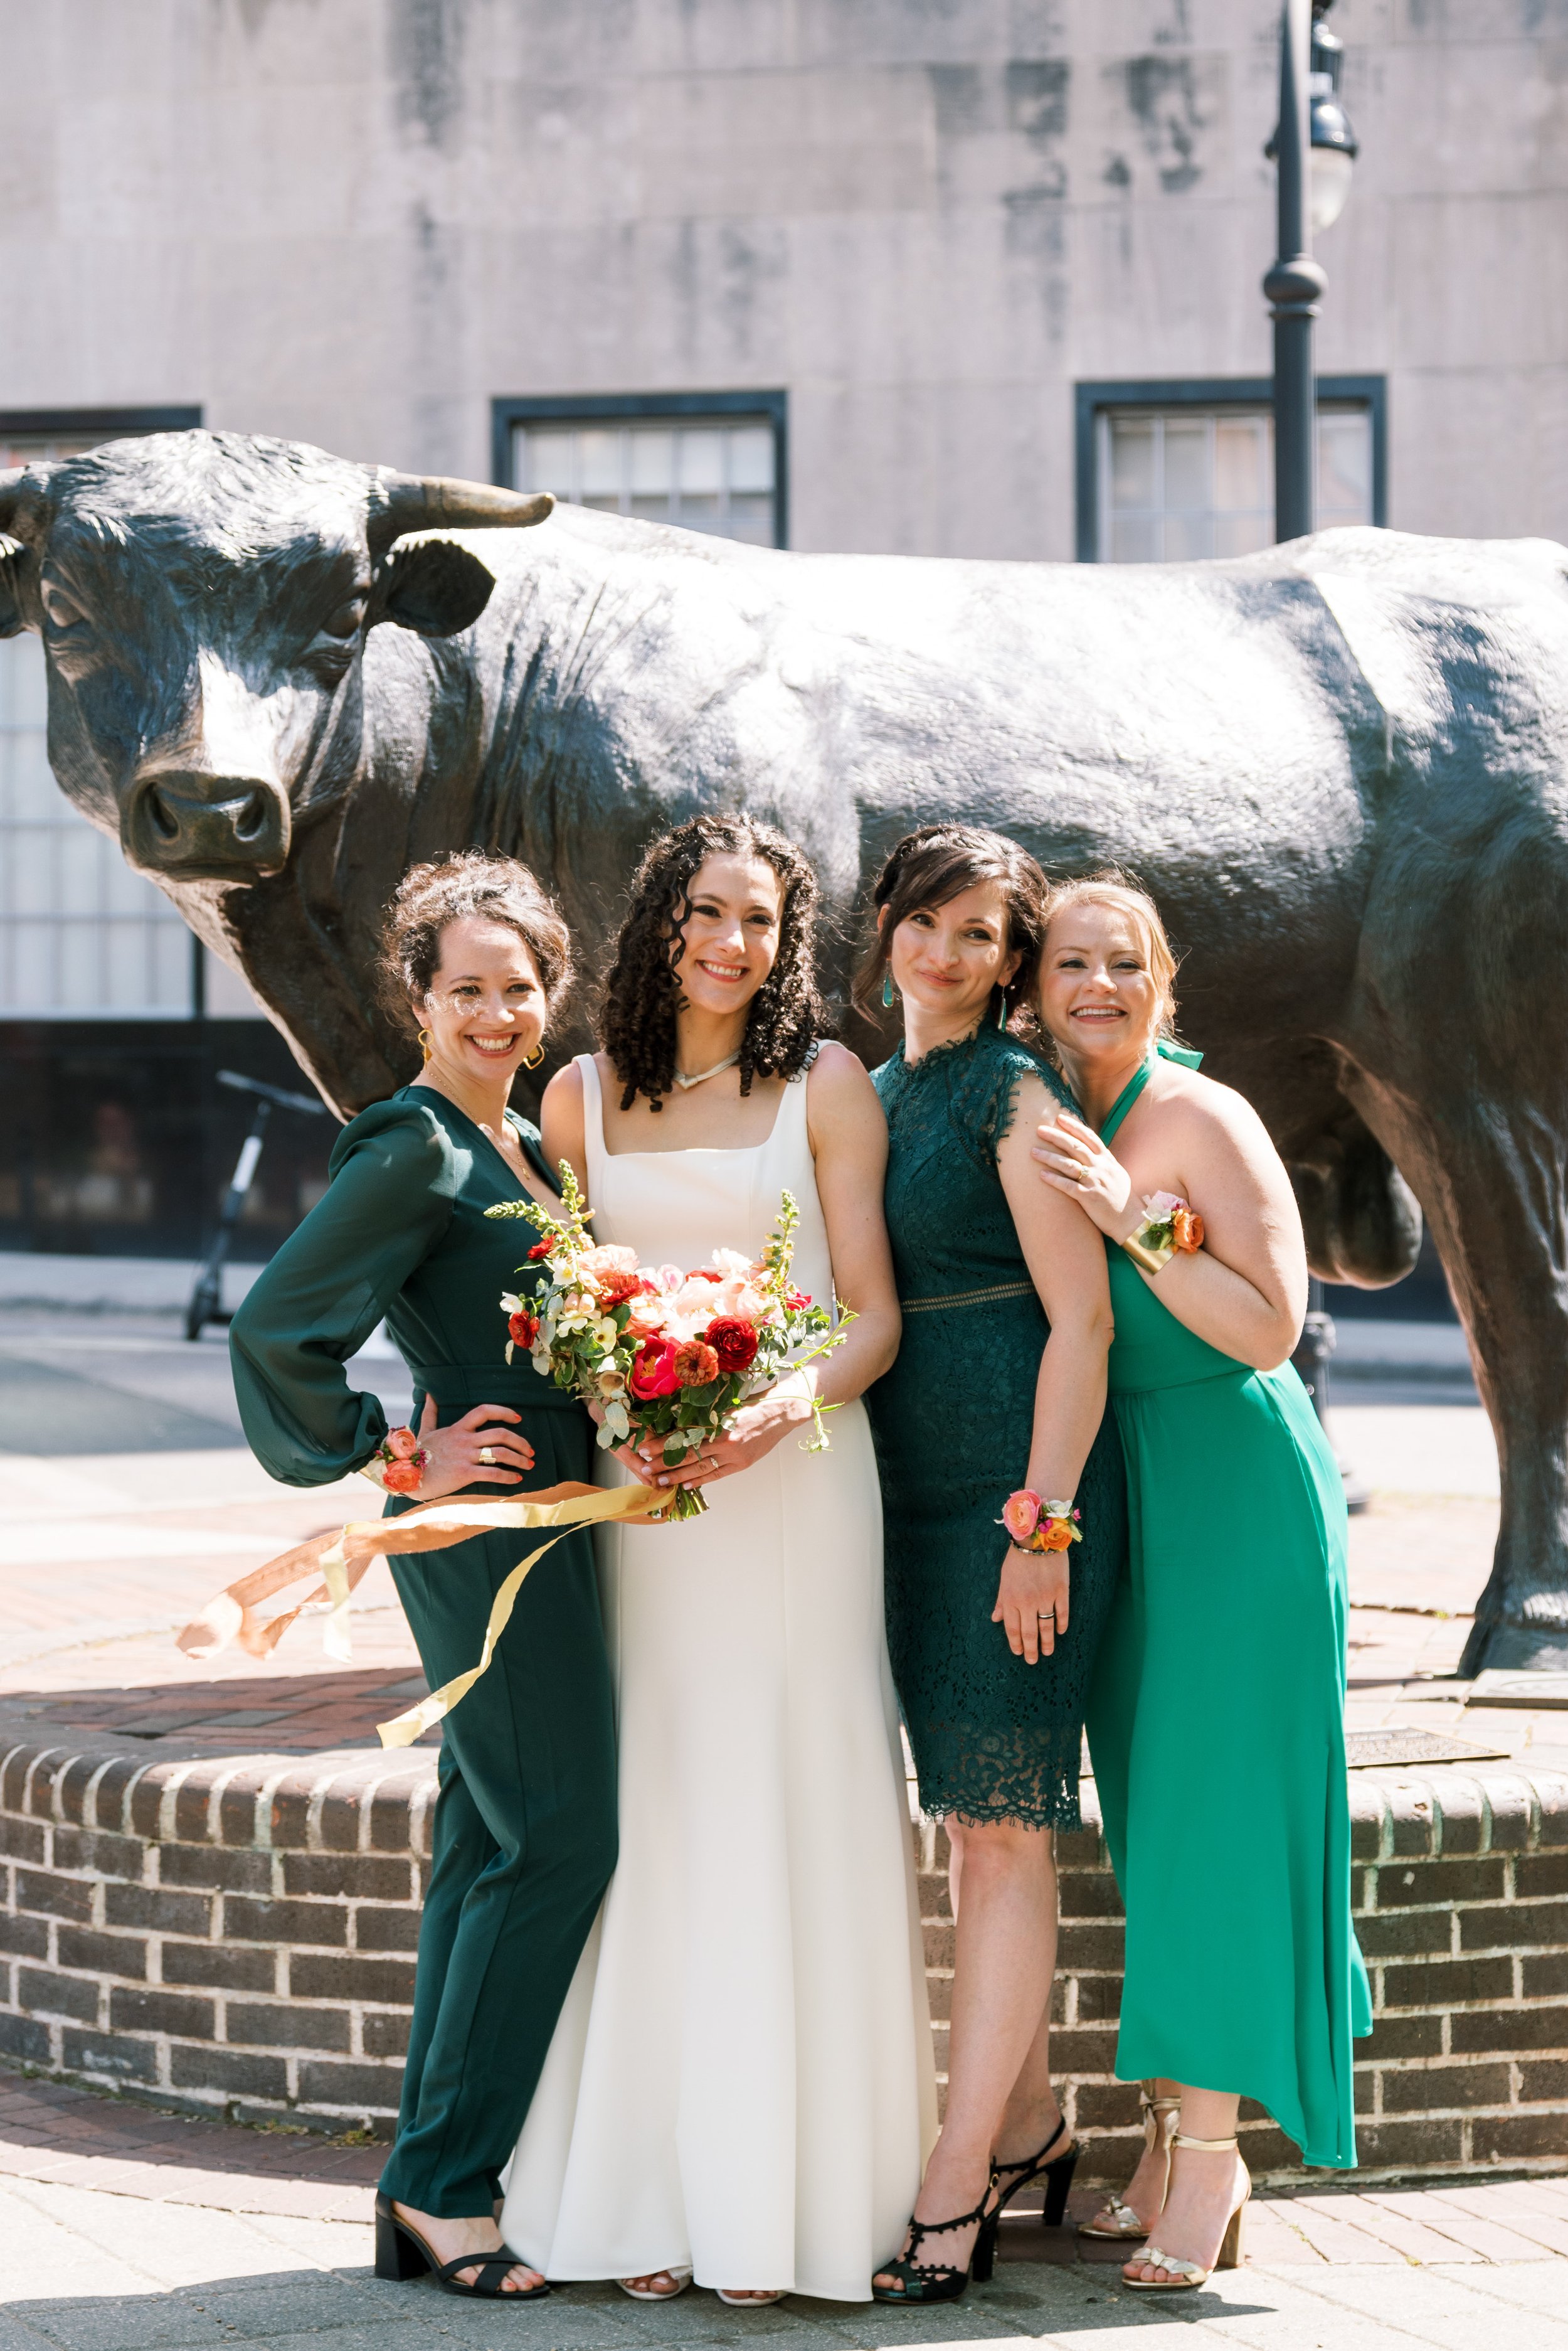
{"label": "black street lamp post with lantern, rising behind the bull statue", "polygon": [[[1279,28],[1279,129],[1265,153],[1279,167],[1279,254],[1262,280],[1274,317],[1274,538],[1305,538],[1316,505],[1316,386],[1312,320],[1328,277],[1312,259],[1312,230],[1331,228],[1345,209],[1356,136],[1340,106],[1345,42],[1324,26],[1333,0],[1286,0]],[[1328,1418],[1328,1357],[1333,1317],[1324,1310],[1316,1274],[1307,1288],[1307,1321],[1295,1368],[1312,1389],[1319,1420]],[[1352,1509],[1363,1502],[1340,1462]]]}

